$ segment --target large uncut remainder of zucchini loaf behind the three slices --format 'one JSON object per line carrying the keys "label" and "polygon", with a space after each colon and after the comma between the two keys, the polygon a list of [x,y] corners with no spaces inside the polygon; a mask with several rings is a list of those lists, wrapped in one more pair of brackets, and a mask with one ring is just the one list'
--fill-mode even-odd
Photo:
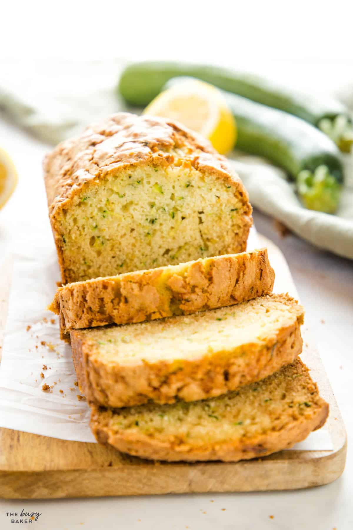
{"label": "large uncut remainder of zucchini loaf behind the three slices", "polygon": [[119,113],[44,160],[62,283],[246,250],[248,194],[208,140]]}

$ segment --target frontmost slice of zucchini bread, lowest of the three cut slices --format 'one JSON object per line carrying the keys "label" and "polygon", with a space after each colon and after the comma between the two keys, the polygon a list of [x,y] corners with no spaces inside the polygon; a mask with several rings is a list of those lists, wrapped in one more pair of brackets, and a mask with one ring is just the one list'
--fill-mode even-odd
{"label": "frontmost slice of zucchini bread, lowest of the three cut slices", "polygon": [[210,400],[124,409],[92,405],[97,440],[142,458],[233,461],[292,447],[320,428],[329,406],[296,359],[263,381]]}

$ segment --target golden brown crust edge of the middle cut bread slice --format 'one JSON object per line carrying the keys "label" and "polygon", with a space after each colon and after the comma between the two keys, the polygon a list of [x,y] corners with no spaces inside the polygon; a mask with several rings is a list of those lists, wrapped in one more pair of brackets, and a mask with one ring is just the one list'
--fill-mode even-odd
{"label": "golden brown crust edge of the middle cut bread slice", "polygon": [[[77,379],[88,401],[105,407],[131,407],[153,400],[173,403],[176,399],[195,401],[221,395],[239,386],[259,381],[282,366],[292,363],[302,351],[300,325],[303,308],[286,295],[268,295],[293,306],[291,324],[274,330],[261,342],[247,343],[230,350],[213,351],[191,361],[165,360],[121,365],[97,354],[87,340],[87,332],[70,332]],[[174,317],[178,318],[178,317]]]}

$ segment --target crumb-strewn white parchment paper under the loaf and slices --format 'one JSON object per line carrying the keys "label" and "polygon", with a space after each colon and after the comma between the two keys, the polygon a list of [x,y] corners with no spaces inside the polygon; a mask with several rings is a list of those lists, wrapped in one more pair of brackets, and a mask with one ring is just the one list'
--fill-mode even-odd
{"label": "crumb-strewn white parchment paper under the loaf and slices", "polygon": [[[43,237],[41,252],[28,245],[15,255],[0,367],[0,427],[95,442],[88,405],[78,399],[71,348],[60,340],[58,316],[46,311],[60,273],[49,231]],[[248,249],[258,246],[252,229]],[[43,384],[49,391],[42,390]],[[323,427],[293,449],[331,451],[333,445]]]}

